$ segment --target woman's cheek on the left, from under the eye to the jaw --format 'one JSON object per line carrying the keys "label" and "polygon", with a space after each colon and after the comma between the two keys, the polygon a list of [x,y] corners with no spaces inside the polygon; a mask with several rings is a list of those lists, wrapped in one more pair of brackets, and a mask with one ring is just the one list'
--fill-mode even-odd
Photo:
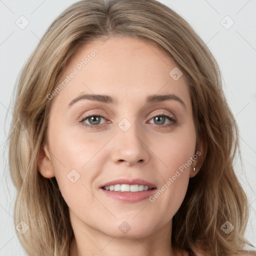
{"label": "woman's cheek on the left, from under the eye to the jaw", "polygon": [[100,159],[104,150],[100,149],[109,138],[102,136],[95,139],[88,133],[77,133],[77,130],[74,132],[71,128],[60,129],[53,125],[48,138],[55,177],[68,207],[81,215],[89,213],[91,207],[99,207],[92,195],[92,184],[102,169]]}

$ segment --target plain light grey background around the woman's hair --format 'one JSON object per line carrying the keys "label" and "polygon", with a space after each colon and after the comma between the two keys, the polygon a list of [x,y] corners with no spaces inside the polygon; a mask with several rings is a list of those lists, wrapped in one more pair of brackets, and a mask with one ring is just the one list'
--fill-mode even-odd
{"label": "plain light grey background around the woman's hair", "polygon": [[[0,0],[0,255],[25,255],[15,234],[15,189],[6,165],[6,135],[13,86],[22,65],[46,28],[73,2],[75,0]],[[250,203],[246,238],[256,245],[256,0],[160,2],[191,24],[220,66],[224,92],[240,129],[245,171],[241,170],[237,160],[236,173]],[[21,15],[29,21],[24,29],[15,23]],[[234,24],[229,27],[232,20]]]}

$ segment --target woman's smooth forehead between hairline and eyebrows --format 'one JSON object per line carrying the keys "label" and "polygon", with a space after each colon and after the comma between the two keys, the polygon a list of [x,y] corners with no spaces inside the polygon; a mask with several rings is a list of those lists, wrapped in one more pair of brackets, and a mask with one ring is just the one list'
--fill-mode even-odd
{"label": "woman's smooth forehead between hairline and eyebrows", "polygon": [[81,93],[108,94],[118,102],[174,93],[190,106],[188,87],[175,63],[151,42],[135,37],[114,36],[81,45],[66,64],[61,82],[64,86],[53,99],[61,97],[67,104]]}

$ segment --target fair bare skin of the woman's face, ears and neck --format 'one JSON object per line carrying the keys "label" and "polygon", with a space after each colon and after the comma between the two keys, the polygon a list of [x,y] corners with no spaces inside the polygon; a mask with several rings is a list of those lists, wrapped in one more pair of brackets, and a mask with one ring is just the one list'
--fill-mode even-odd
{"label": "fair bare skin of the woman's face, ears and neck", "polygon": [[[175,64],[164,51],[123,36],[82,45],[63,77],[95,48],[99,50],[95,57],[51,99],[47,141],[38,160],[44,177],[56,177],[69,207],[75,235],[70,255],[181,255],[173,252],[170,242],[172,217],[205,155],[202,143],[196,141],[185,79],[169,75]],[[82,93],[107,94],[118,102],[82,99],[68,106]],[[176,100],[145,102],[148,95],[167,93],[180,97],[186,108]],[[98,128],[85,127],[80,121],[86,114],[104,118]],[[153,117],[161,114],[177,123],[163,127],[172,121],[165,118],[158,124]],[[123,118],[131,124],[125,132],[118,126]],[[83,123],[93,125],[89,118]],[[99,188],[126,177],[145,179],[159,189],[198,150],[202,154],[154,202],[148,198],[121,202]],[[72,169],[80,175],[74,183],[67,178]],[[118,228],[123,221],[130,226],[125,234]]]}

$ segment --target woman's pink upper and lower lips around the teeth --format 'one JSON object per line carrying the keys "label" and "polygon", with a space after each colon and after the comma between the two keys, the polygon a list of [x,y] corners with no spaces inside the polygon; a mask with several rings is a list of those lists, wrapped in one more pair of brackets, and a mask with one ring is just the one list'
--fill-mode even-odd
{"label": "woman's pink upper and lower lips around the teeth", "polygon": [[[120,192],[120,191],[110,191],[110,190],[105,190],[102,187],[103,186],[110,186],[110,185],[116,185],[116,184],[138,184],[138,185],[145,185],[148,186],[149,189],[151,190],[146,190],[146,191],[138,191],[138,192]],[[148,198],[149,196],[153,195],[156,190],[156,186],[144,179],[126,179],[126,178],[119,178],[112,180],[110,182],[106,182],[102,185],[100,185],[100,190],[104,193],[104,195],[120,200],[123,202],[138,202],[143,199]]]}

